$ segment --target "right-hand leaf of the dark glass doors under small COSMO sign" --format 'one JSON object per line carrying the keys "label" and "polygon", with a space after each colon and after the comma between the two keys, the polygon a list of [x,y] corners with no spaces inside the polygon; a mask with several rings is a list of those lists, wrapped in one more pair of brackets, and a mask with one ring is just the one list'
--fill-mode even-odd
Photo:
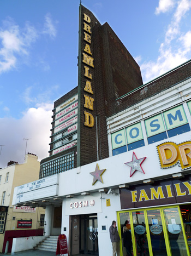
{"label": "right-hand leaf of the dark glass doors under small COSMO sign", "polygon": [[86,250],[85,254],[98,255],[98,219],[97,215],[86,218]]}

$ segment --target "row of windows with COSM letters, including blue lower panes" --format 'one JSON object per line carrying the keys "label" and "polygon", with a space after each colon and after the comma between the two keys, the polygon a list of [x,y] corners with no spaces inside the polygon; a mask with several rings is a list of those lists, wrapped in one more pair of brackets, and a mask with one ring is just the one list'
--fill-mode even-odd
{"label": "row of windows with COSM letters, including blue lower panes", "polygon": [[[191,101],[187,103],[191,114]],[[146,130],[146,138],[142,129]],[[134,123],[131,126],[117,130],[111,134],[112,155],[118,155],[127,150],[134,150],[148,144],[171,138],[178,134],[190,131],[183,105],[158,113],[146,119],[144,122]]]}

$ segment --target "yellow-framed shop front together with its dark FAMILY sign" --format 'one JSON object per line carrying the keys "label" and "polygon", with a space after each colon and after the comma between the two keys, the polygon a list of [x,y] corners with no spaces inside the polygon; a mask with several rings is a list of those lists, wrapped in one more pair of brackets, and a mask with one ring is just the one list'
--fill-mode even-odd
{"label": "yellow-framed shop front together with its dark FAMILY sign", "polygon": [[[121,208],[126,208],[117,212],[121,255],[191,255],[190,178],[121,189]],[[132,237],[130,252],[124,226]]]}

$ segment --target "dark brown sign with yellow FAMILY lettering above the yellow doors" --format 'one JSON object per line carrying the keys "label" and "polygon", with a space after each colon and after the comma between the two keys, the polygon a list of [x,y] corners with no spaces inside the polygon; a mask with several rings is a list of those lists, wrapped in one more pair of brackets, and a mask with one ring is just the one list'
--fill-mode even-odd
{"label": "dark brown sign with yellow FAMILY lettering above the yellow doors", "polygon": [[190,175],[181,180],[166,179],[152,185],[135,185],[121,189],[121,209],[160,206],[163,204],[190,202]]}

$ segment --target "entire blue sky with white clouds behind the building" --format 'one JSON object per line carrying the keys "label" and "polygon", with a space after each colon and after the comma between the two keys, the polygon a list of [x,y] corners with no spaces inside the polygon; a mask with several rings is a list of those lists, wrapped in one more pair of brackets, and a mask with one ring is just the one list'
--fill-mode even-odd
{"label": "entire blue sky with white clouds behind the building", "polygon": [[[0,0],[0,167],[49,156],[53,101],[77,86],[79,0]],[[191,0],[82,0],[144,83],[190,59]]]}

